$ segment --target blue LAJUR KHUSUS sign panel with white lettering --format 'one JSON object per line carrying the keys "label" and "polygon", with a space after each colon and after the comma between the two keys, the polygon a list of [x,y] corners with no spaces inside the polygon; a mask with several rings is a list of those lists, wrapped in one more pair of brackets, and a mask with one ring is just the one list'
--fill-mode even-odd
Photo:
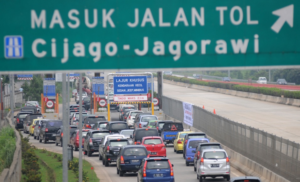
{"label": "blue LAJUR KHUSUS sign panel with white lettering", "polygon": [[147,76],[114,76],[113,94],[146,94]]}

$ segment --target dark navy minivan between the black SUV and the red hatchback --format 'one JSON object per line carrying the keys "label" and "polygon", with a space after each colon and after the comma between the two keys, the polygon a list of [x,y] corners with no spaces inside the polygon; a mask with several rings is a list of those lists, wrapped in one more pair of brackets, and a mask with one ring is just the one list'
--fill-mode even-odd
{"label": "dark navy minivan between the black SUV and the red hatchback", "polygon": [[124,145],[121,147],[117,158],[117,174],[136,173],[141,161],[148,156],[150,151],[144,145]]}

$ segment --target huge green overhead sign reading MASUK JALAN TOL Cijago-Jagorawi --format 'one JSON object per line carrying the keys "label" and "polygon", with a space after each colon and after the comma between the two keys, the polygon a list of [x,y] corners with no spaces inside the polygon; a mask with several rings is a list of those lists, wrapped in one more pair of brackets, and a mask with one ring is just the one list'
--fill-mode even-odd
{"label": "huge green overhead sign reading MASUK JALAN TOL Cijago-Jagorawi", "polygon": [[299,9],[298,0],[3,1],[0,71],[300,67]]}

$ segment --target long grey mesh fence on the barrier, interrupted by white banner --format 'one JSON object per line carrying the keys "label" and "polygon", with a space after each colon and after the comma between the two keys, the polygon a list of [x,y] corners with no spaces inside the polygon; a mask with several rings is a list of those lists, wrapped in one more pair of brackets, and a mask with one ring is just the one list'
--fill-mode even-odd
{"label": "long grey mesh fence on the barrier, interrupted by white banner", "polygon": [[[171,107],[170,107],[171,106]],[[183,121],[182,101],[162,96],[164,114]],[[299,143],[193,106],[193,127],[292,182],[300,181]]]}

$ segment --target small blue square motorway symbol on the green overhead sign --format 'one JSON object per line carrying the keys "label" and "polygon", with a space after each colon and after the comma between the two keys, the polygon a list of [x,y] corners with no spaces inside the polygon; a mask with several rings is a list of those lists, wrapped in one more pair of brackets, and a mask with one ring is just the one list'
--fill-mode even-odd
{"label": "small blue square motorway symbol on the green overhead sign", "polygon": [[4,51],[6,59],[22,59],[24,57],[23,37],[20,35],[5,36]]}

